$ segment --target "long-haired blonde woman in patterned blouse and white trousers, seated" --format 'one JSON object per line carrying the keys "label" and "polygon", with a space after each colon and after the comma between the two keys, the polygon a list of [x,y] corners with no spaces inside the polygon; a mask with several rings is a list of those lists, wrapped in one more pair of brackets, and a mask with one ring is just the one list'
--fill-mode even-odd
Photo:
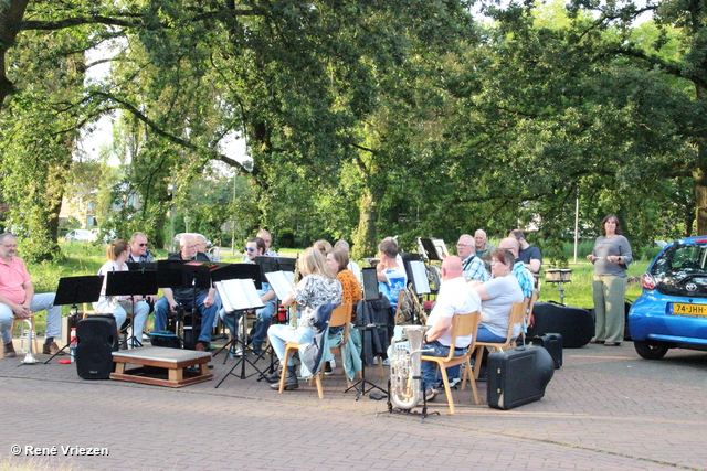
{"label": "long-haired blonde woman in patterned blouse and white trousers, seated", "polygon": [[[314,336],[313,323],[315,314],[320,306],[328,303],[341,303],[341,283],[336,279],[327,266],[324,254],[316,248],[307,248],[298,260],[302,280],[292,288],[289,296],[282,300],[282,306],[297,303],[302,309],[302,315],[297,322],[297,328],[277,324],[267,329],[267,338],[279,360],[279,364],[285,364],[285,343],[309,343]],[[279,373],[268,376],[268,382],[273,383],[273,389],[278,389]],[[285,378],[285,389],[296,389],[298,387],[297,372],[293,362],[287,362],[287,376]]]}

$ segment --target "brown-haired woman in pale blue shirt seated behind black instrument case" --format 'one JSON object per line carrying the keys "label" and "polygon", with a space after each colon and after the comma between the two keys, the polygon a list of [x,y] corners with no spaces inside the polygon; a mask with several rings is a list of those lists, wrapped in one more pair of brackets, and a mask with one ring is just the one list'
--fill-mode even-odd
{"label": "brown-haired woman in pale blue shirt seated behind black instrument case", "polygon": [[[482,298],[482,323],[478,325],[477,342],[506,342],[513,303],[524,300],[520,285],[513,275],[514,260],[510,251],[497,249],[490,261],[494,278],[474,287]],[[513,329],[513,336],[518,336],[520,325],[514,325]]]}

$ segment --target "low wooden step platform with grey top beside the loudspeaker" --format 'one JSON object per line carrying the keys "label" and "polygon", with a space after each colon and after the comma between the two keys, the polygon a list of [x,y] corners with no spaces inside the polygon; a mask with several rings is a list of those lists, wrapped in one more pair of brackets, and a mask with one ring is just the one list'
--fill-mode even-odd
{"label": "low wooden step platform with grey top beside the loudspeaker", "polygon": [[[113,352],[115,373],[110,379],[156,386],[183,387],[213,378],[209,373],[211,353],[193,350],[166,349],[163,346],[141,346]],[[126,365],[140,365],[126,370]],[[199,366],[198,371],[184,370]]]}

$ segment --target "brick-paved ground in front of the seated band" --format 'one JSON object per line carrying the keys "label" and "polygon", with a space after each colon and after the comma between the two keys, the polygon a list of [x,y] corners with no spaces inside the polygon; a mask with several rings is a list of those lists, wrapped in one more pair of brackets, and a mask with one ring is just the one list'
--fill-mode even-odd
{"label": "brick-paved ground in front of the seated band", "polygon": [[[458,390],[455,415],[442,396],[431,407],[441,415],[424,422],[377,415],[386,402],[355,400],[342,393],[340,375],[325,379],[321,400],[315,387],[278,395],[255,378],[228,377],[214,389],[234,362],[224,366],[223,354],[212,362],[213,381],[179,389],[85,381],[74,365],[18,366],[22,357],[0,361],[0,461],[10,463],[75,470],[707,469],[701,352],[671,351],[648,362],[631,342],[566,349],[541,400],[490,409],[479,383],[484,404],[472,405],[471,390]],[[377,367],[367,376],[383,385]],[[28,457],[27,447],[55,447],[56,456]],[[68,447],[105,448],[107,456],[71,456]]]}

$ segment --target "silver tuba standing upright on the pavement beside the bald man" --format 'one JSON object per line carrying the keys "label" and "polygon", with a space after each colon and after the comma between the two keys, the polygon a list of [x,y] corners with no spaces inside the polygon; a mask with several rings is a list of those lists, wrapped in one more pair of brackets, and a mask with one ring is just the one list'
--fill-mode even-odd
{"label": "silver tuba standing upright on the pavement beside the bald man", "polygon": [[[393,340],[390,356],[390,402],[410,410],[422,400],[422,340],[425,327],[404,325],[402,340]],[[404,342],[404,340],[408,342]]]}

